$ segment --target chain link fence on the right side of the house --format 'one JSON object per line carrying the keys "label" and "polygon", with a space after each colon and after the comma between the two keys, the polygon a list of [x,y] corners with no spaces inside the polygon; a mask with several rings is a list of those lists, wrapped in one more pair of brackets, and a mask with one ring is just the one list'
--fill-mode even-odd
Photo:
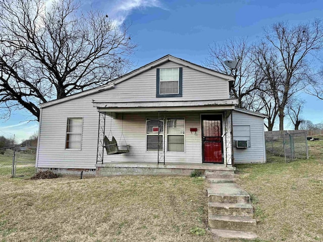
{"label": "chain link fence on the right side of the house", "polygon": [[266,152],[285,157],[285,162],[308,158],[306,130],[265,132]]}

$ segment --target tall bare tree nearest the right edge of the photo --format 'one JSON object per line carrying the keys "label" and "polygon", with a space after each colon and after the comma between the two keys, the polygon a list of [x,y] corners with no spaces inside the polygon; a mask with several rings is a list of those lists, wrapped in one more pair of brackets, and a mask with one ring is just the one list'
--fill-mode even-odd
{"label": "tall bare tree nearest the right edge of the photo", "polygon": [[[272,47],[275,64],[281,70],[280,80],[276,82],[278,86],[276,90],[273,86],[271,91],[277,102],[279,128],[284,130],[284,111],[289,98],[303,90],[312,77],[307,57],[322,49],[323,25],[320,20],[295,26],[280,22],[270,29],[265,29],[262,45]],[[262,56],[264,55],[266,52],[262,53]]]}

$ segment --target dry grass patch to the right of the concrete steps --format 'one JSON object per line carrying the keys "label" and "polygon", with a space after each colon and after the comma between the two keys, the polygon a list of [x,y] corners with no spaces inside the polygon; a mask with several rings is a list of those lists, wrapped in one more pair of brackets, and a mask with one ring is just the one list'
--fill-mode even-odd
{"label": "dry grass patch to the right of the concrete steps", "polygon": [[238,165],[258,221],[254,241],[323,241],[323,141],[308,144],[308,160],[270,156],[266,164]]}

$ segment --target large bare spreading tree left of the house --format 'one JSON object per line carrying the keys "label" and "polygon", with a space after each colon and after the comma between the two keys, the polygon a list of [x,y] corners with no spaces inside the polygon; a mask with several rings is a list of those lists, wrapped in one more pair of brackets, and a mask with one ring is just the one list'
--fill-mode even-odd
{"label": "large bare spreading tree left of the house", "polygon": [[39,103],[106,84],[132,63],[135,44],[126,26],[99,11],[85,14],[73,0],[0,1],[0,108]]}

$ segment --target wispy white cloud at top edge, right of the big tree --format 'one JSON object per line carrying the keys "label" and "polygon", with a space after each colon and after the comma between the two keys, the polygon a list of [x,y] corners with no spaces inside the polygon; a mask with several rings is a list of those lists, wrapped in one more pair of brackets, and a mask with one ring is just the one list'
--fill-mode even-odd
{"label": "wispy white cloud at top edge, right of the big tree", "polygon": [[121,25],[135,9],[163,8],[158,0],[122,0],[106,5],[108,15],[116,25]]}

